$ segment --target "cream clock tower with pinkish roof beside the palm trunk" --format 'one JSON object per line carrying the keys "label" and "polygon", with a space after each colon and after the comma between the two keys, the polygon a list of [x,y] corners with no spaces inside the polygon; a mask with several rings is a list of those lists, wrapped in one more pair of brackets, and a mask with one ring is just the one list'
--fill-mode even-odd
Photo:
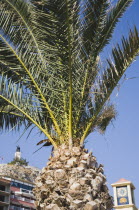
{"label": "cream clock tower with pinkish roof beside the palm trunk", "polygon": [[114,191],[115,210],[138,210],[134,200],[134,185],[126,179],[120,179],[111,185]]}

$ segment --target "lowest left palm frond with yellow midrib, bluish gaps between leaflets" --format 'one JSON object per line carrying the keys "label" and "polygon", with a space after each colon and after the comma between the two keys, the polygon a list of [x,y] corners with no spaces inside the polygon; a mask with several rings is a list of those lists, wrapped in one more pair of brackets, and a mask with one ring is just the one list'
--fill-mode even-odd
{"label": "lowest left palm frond with yellow midrib, bluish gaps between leaflets", "polygon": [[[0,99],[2,101],[2,106],[6,103],[10,107],[13,107],[17,114],[20,113],[19,116],[23,116],[28,121],[35,124],[43,133],[47,133],[47,136],[50,137],[50,141],[53,142],[48,131],[51,128],[51,124],[49,125],[51,121],[44,121],[46,118],[42,118],[41,106],[38,100],[33,97],[34,96],[26,92],[26,90],[24,91],[24,88],[21,87],[20,83],[16,84],[11,80],[7,80],[5,76],[0,77]],[[14,116],[16,112],[14,112]],[[54,142],[53,144],[55,145]]]}

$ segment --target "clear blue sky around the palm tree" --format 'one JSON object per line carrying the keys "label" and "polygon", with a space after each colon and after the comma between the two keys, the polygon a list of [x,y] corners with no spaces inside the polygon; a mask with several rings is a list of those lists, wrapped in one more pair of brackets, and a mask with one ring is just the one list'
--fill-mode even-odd
{"label": "clear blue sky around the palm tree", "polygon": [[[120,40],[121,34],[126,34],[133,24],[139,29],[139,0],[132,3],[118,23],[111,45]],[[86,147],[104,165],[111,194],[110,184],[120,178],[133,182],[136,187],[136,205],[139,208],[139,57],[128,68],[126,79],[122,79],[120,88],[115,89],[112,101],[118,112],[116,120],[108,127],[105,135],[91,134],[87,138]],[[0,135],[0,163],[11,161],[16,145],[20,145],[22,155],[30,165],[44,167],[51,152],[50,148],[43,148],[33,154],[37,149],[36,143],[43,138],[34,132],[29,139],[26,140],[24,135],[17,142],[19,136],[19,133],[12,132]]]}

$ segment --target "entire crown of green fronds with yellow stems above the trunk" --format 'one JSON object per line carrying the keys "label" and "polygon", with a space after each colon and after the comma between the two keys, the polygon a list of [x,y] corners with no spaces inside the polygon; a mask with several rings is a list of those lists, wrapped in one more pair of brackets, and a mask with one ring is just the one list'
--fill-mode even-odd
{"label": "entire crown of green fronds with yellow stems above the trunk", "polygon": [[115,116],[107,106],[110,94],[139,52],[137,29],[113,48],[107,67],[100,53],[131,2],[111,8],[108,0],[1,0],[5,128],[24,124],[31,133],[35,125],[55,147],[82,144],[96,128],[104,131]]}

